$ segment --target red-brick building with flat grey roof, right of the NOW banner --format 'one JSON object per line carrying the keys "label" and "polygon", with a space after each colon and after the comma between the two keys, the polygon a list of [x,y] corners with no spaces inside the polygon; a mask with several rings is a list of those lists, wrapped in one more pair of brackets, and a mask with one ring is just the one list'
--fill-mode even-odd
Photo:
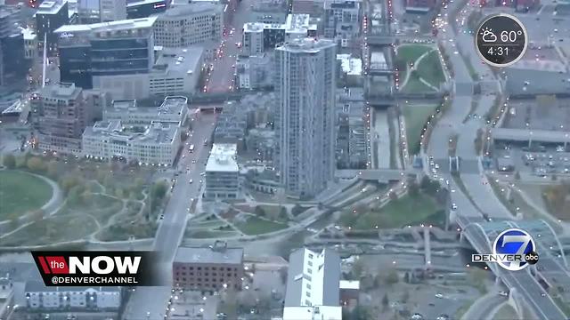
{"label": "red-brick building with flat grey roof, right of the NOW banner", "polygon": [[173,262],[176,287],[217,292],[241,289],[243,248],[216,241],[208,247],[179,247]]}

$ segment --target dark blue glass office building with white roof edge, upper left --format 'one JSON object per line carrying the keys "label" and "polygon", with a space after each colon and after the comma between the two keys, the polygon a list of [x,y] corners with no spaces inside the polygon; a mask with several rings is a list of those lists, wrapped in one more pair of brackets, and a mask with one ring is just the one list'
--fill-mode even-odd
{"label": "dark blue glass office building with white roof edge, upper left", "polygon": [[[153,17],[56,29],[61,81],[91,89],[102,88],[110,76],[148,74],[154,66],[155,21]],[[115,89],[134,95],[137,85]]]}

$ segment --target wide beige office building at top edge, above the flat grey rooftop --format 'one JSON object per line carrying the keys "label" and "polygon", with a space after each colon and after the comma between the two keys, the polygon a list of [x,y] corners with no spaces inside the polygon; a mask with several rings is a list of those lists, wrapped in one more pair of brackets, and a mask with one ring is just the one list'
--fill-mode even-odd
{"label": "wide beige office building at top edge, above the flat grey rooftop", "polygon": [[219,42],[224,30],[223,15],[222,4],[176,4],[159,14],[154,25],[155,42],[166,47]]}

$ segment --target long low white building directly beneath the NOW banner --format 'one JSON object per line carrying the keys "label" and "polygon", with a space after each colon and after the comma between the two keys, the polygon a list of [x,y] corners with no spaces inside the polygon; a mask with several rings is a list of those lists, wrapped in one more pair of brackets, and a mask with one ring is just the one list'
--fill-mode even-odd
{"label": "long low white building directly beneath the NOW banner", "polygon": [[85,308],[116,311],[121,304],[121,288],[46,287],[41,281],[28,281],[24,294],[31,309]]}

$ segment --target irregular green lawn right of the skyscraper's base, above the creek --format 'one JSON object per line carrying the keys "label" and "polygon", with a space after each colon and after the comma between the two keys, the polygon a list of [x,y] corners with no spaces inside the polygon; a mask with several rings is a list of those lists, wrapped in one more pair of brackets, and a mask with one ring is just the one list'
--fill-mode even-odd
{"label": "irregular green lawn right of the skyscraper's base, above the creek", "polygon": [[420,223],[442,224],[444,222],[443,208],[431,196],[419,194],[412,197],[404,195],[379,210],[363,213],[345,212],[340,222],[346,227],[357,230],[376,228],[403,228]]}

